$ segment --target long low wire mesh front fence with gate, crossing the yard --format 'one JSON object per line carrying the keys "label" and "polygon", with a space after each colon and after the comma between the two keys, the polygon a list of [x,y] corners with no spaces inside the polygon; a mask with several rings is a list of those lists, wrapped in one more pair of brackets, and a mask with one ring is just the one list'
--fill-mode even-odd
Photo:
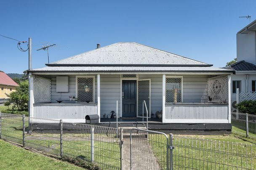
{"label": "long low wire mesh front fence with gate, crossing the yard", "polygon": [[[246,116],[238,115],[232,113],[232,121]],[[254,119],[248,116],[249,121]],[[245,131],[243,124],[236,128]],[[168,137],[138,128],[129,136],[123,140],[123,131],[117,128],[0,113],[1,139],[80,165],[106,170],[256,170],[255,144]]]}

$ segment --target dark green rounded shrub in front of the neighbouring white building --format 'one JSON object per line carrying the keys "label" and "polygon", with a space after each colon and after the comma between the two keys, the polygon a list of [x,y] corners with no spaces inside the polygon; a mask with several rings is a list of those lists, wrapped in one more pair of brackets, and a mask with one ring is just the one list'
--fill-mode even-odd
{"label": "dark green rounded shrub in front of the neighbouring white building", "polygon": [[256,115],[256,101],[244,100],[243,102],[236,104],[236,106],[241,113]]}

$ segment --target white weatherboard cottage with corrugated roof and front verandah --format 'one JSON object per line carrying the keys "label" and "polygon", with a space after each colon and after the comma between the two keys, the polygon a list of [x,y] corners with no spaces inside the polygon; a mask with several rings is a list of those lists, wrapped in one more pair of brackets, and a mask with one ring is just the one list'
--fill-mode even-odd
{"label": "white weatherboard cottage with corrugated roof and front verandah", "polygon": [[98,114],[104,122],[118,101],[118,118],[141,118],[145,100],[149,118],[163,123],[231,121],[232,70],[134,42],[46,65],[28,71],[31,117],[85,123]]}

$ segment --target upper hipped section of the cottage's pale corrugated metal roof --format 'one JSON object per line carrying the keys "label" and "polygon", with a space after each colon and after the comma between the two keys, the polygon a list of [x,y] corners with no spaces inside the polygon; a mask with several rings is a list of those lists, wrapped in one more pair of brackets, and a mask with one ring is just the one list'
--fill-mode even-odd
{"label": "upper hipped section of the cottage's pale corrugated metal roof", "polygon": [[135,42],[118,42],[48,65],[208,65]]}

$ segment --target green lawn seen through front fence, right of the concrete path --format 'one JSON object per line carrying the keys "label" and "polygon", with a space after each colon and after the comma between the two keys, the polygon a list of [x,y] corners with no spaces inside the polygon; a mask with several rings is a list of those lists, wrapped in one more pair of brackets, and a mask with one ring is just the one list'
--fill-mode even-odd
{"label": "green lawn seen through front fence, right of the concrete path", "polygon": [[[149,142],[160,166],[165,167],[163,157],[165,144],[154,139],[157,135],[149,135]],[[162,141],[165,140],[161,136]],[[159,137],[158,139],[159,140]],[[174,135],[173,136],[173,168],[179,169],[256,169],[256,145],[237,138],[234,135]]]}

